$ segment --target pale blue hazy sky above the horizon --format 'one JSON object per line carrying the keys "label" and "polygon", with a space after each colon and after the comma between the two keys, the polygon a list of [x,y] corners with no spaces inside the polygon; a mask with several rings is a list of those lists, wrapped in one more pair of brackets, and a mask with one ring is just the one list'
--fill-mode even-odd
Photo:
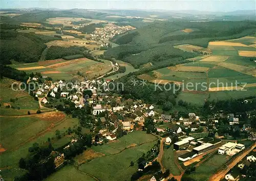
{"label": "pale blue hazy sky above the horizon", "polygon": [[148,9],[235,11],[256,9],[256,0],[0,0],[1,8]]}

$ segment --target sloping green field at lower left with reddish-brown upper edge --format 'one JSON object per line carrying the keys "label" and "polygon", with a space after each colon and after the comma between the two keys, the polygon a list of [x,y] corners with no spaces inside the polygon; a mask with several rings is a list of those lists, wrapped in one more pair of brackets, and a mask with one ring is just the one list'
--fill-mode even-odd
{"label": "sloping green field at lower left with reddish-brown upper edge", "polygon": [[1,144],[6,149],[0,154],[0,168],[5,180],[13,180],[15,176],[24,173],[19,169],[18,161],[26,157],[33,143],[45,143],[48,138],[55,137],[55,130],[63,133],[68,127],[77,126],[78,120],[65,117],[61,112],[49,112],[29,117],[1,117],[0,124],[5,127],[1,129],[0,135]]}

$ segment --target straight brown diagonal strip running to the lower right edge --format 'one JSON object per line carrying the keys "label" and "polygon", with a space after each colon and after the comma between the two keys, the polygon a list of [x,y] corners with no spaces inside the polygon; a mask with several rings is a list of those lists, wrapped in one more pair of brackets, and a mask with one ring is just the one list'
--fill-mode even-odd
{"label": "straight brown diagonal strip running to the lower right edge", "polygon": [[227,174],[227,172],[233,168],[234,166],[237,165],[238,162],[240,162],[251,150],[253,150],[256,146],[256,143],[254,143],[252,146],[250,146],[249,148],[245,149],[243,151],[243,153],[241,155],[239,155],[238,157],[236,157],[236,159],[234,159],[229,165],[226,165],[226,168],[224,170],[220,170],[219,172],[217,172],[216,174],[212,175],[209,178],[209,181],[216,181],[216,180],[221,180],[222,178],[225,177],[225,175]]}

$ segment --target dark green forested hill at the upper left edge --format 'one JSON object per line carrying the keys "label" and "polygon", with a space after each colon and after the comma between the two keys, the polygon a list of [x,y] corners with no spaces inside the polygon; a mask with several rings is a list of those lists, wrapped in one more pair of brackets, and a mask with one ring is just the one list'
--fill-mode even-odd
{"label": "dark green forested hill at the upper left edge", "polygon": [[1,64],[11,64],[11,60],[27,63],[36,62],[47,48],[44,43],[60,40],[57,37],[18,33],[12,30],[1,30],[0,39]]}

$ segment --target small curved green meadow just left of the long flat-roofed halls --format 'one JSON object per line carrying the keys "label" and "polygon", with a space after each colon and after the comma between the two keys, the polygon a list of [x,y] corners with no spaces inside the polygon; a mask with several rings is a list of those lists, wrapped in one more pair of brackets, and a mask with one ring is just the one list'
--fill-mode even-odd
{"label": "small curved green meadow just left of the long flat-roofed halls", "polygon": [[165,169],[169,169],[173,175],[180,175],[180,170],[174,162],[174,146],[170,146],[168,149],[164,149],[162,157],[162,164]]}

